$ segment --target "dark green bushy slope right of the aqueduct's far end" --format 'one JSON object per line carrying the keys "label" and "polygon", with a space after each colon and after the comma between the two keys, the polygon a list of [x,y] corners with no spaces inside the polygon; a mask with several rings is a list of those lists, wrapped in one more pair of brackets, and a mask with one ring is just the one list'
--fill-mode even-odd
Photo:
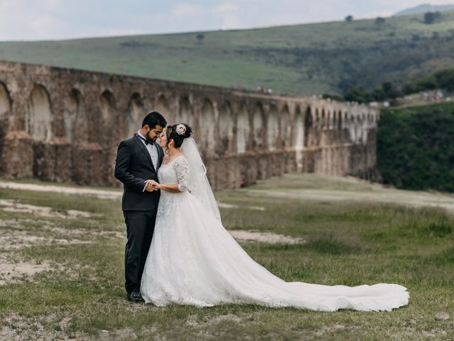
{"label": "dark green bushy slope right of the aqueduct's far end", "polygon": [[377,168],[397,188],[454,192],[454,103],[382,109]]}

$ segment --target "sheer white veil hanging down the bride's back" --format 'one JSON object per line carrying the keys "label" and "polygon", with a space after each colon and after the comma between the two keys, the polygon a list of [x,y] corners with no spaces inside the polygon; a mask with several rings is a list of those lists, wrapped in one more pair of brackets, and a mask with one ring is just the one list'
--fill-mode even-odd
{"label": "sheer white veil hanging down the bride's back", "polygon": [[184,139],[181,148],[189,163],[190,192],[213,212],[216,219],[221,220],[221,213],[214,198],[213,190],[211,190],[211,185],[206,177],[206,167],[204,161],[201,159],[196,141],[192,137]]}

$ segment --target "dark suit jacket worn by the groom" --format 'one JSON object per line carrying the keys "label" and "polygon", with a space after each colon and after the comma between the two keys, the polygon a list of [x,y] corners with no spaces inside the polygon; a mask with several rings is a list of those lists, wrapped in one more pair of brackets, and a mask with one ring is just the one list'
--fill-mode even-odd
{"label": "dark suit jacket worn by the groom", "polygon": [[[155,143],[158,154],[157,168],[161,166],[164,152]],[[123,211],[148,211],[157,209],[159,190],[143,192],[145,180],[157,181],[157,170],[153,166],[150,153],[137,134],[121,141],[115,161],[115,178],[123,183]]]}

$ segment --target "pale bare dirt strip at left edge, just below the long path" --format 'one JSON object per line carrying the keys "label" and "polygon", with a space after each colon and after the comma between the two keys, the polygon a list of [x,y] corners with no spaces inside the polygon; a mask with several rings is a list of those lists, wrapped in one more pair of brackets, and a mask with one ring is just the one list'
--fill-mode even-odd
{"label": "pale bare dirt strip at left edge, just below the long path", "polygon": [[35,217],[90,218],[99,216],[98,214],[77,210],[61,212],[52,209],[52,207],[21,204],[21,202],[16,200],[0,200],[0,206],[6,212],[30,213],[35,215]]}

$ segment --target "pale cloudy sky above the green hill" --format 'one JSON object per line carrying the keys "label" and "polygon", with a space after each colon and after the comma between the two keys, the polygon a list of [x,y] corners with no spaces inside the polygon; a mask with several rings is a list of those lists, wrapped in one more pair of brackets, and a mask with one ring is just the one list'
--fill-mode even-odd
{"label": "pale cloudy sky above the green hill", "polygon": [[253,28],[375,18],[453,0],[0,0],[0,40]]}

